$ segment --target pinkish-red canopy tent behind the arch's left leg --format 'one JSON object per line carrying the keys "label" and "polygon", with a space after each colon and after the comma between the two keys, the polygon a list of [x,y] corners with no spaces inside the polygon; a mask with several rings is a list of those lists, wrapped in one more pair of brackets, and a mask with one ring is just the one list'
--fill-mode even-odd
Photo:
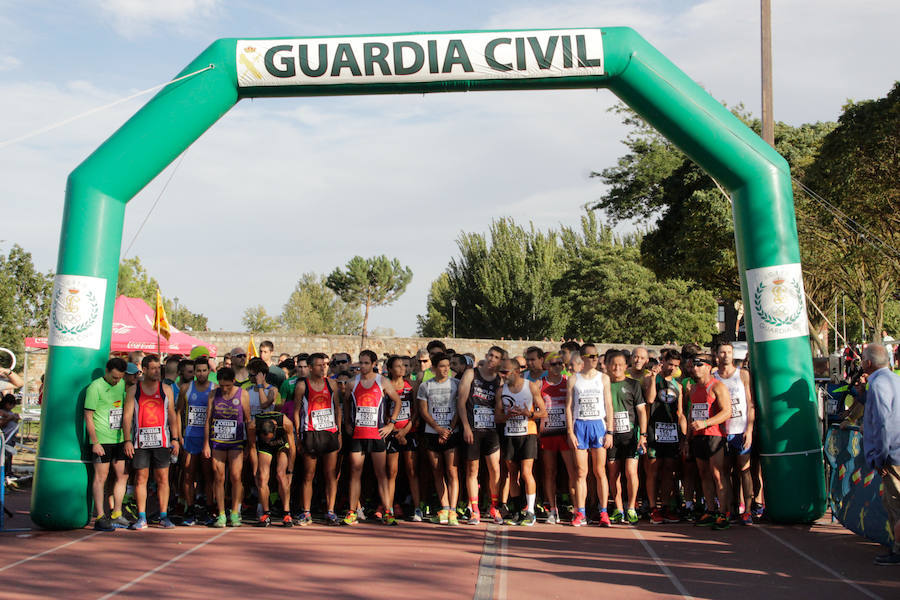
{"label": "pinkish-red canopy tent behind the arch's left leg", "polygon": [[[156,330],[153,329],[154,312],[141,298],[116,298],[113,309],[113,331],[111,352],[131,352],[143,350],[156,352]],[[205,346],[209,355],[216,355],[216,347],[203,340],[171,328],[172,335],[168,340],[159,338],[159,350],[165,354],[190,354],[194,346]],[[26,348],[46,348],[47,338],[25,338]]]}

